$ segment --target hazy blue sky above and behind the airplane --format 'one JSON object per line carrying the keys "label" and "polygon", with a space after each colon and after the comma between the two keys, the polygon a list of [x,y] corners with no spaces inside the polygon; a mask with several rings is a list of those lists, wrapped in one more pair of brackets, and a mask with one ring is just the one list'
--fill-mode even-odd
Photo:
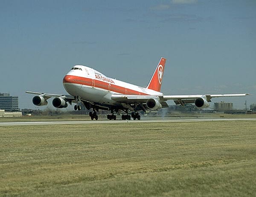
{"label": "hazy blue sky above and behind the airplane", "polygon": [[163,93],[256,103],[255,0],[1,0],[0,24],[0,92],[20,108],[35,109],[26,90],[66,94],[77,64],[146,86],[162,56]]}

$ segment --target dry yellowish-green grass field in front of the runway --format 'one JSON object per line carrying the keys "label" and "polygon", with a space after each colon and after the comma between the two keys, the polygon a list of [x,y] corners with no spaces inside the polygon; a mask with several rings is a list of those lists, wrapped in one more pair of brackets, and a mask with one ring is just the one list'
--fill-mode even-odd
{"label": "dry yellowish-green grass field in front of the runway", "polygon": [[256,121],[0,127],[0,196],[255,196]]}

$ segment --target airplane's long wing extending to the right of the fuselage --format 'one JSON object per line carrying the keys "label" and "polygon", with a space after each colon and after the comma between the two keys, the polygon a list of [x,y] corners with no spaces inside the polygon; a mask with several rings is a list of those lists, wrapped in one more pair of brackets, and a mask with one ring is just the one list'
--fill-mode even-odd
{"label": "airplane's long wing extending to the right of the fuselage", "polygon": [[122,94],[113,94],[111,98],[114,101],[130,104],[130,103],[146,103],[150,98],[159,98],[160,103],[162,104],[165,101],[173,100],[175,104],[189,104],[195,103],[197,98],[204,98],[207,102],[211,102],[212,98],[215,97],[228,97],[228,96],[246,96],[250,95],[247,93],[244,94],[206,94],[206,95],[122,95]]}

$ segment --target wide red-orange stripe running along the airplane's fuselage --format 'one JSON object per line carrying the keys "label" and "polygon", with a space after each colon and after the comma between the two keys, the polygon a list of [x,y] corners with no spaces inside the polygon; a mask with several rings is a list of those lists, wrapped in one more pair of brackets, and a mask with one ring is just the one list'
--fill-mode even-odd
{"label": "wide red-orange stripe running along the airplane's fuselage", "polygon": [[128,89],[125,87],[118,86],[113,83],[102,82],[96,79],[85,78],[81,76],[66,75],[64,76],[63,83],[73,83],[87,85],[91,87],[97,87],[104,90],[109,90],[115,93],[128,94],[128,95],[148,95],[136,90]]}

